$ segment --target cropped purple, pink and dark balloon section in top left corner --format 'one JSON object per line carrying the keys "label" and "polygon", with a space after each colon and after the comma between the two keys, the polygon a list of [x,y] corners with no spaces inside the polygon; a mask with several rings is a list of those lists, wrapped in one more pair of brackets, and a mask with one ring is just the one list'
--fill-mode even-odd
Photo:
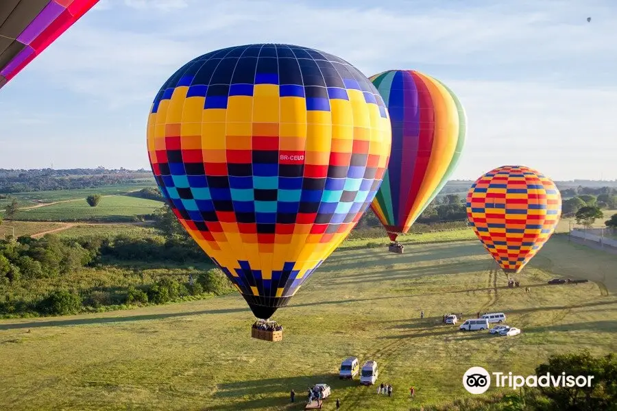
{"label": "cropped purple, pink and dark balloon section in top left corner", "polygon": [[0,88],[98,1],[0,1]]}

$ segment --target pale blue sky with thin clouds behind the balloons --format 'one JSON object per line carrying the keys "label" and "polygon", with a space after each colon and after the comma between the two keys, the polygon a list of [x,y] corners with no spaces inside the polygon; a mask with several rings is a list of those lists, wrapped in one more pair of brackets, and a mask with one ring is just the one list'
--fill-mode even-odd
{"label": "pale blue sky with thin clouds behind the balloons", "polygon": [[612,0],[101,0],[0,90],[0,168],[149,169],[148,112],[174,71],[277,42],[448,85],[468,118],[452,179],[506,164],[617,179],[616,21]]}

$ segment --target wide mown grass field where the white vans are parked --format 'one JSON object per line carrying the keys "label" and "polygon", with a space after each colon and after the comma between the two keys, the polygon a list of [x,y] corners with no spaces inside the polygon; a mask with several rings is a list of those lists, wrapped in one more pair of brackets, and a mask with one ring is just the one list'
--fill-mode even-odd
{"label": "wide mown grass field where the white vans are parked", "polygon": [[[551,353],[617,350],[614,255],[554,236],[520,275],[526,294],[506,287],[478,241],[418,240],[402,256],[362,245],[346,242],[275,314],[281,343],[250,338],[252,314],[239,295],[0,321],[0,408],[302,410],[307,386],[326,382],[324,410],[336,398],[343,410],[419,410],[470,396],[461,376],[472,365],[527,375]],[[596,282],[546,285],[561,275]],[[522,334],[458,332],[441,325],[446,311],[505,312]],[[393,397],[341,382],[337,369],[349,355],[377,360],[378,381],[394,386]]]}

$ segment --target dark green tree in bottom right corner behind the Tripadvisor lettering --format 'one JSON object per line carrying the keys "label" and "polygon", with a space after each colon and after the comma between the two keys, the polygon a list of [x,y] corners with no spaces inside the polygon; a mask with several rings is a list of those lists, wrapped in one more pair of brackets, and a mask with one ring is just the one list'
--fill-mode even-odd
{"label": "dark green tree in bottom right corner behind the Tripadvisor lettering", "polygon": [[[539,386],[537,389],[551,401],[548,409],[569,410],[614,410],[617,403],[617,357],[611,353],[603,357],[593,357],[589,351],[582,353],[558,354],[548,358],[548,363],[535,369],[538,377],[550,373],[552,376],[593,375],[588,387],[568,387],[558,385]],[[532,408],[536,409],[536,408]]]}

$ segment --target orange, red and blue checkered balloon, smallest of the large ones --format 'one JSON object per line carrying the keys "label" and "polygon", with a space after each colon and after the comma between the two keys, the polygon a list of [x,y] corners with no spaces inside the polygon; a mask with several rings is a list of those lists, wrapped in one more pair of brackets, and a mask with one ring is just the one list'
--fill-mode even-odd
{"label": "orange, red and blue checkered balloon, smallest of the large ones", "polygon": [[555,183],[526,166],[502,166],[474,182],[468,219],[506,274],[519,273],[551,237],[561,216]]}

